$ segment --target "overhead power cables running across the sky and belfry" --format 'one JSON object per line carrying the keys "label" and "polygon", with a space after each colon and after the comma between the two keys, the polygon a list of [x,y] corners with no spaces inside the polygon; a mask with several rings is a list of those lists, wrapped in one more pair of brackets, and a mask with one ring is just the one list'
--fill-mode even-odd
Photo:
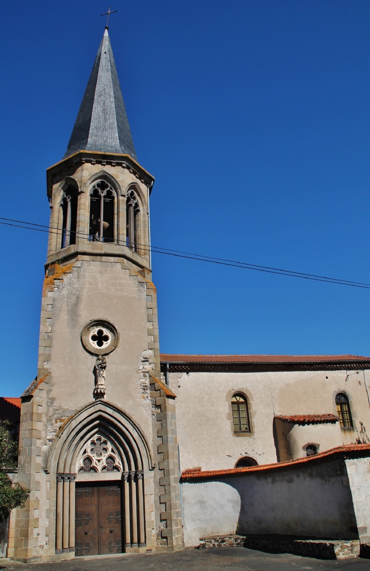
{"label": "overhead power cables running across the sky and belfry", "polygon": [[[13,226],[16,228],[24,228],[26,230],[34,230],[38,232],[46,232],[47,234],[62,235],[62,232],[52,228],[50,226],[45,226],[44,224],[36,224],[34,222],[25,222],[24,220],[14,220],[11,218],[2,218],[0,220],[5,220],[6,222],[0,222],[5,226]],[[74,232],[76,236],[81,238],[89,237],[89,234],[85,232]],[[126,243],[115,242],[119,246],[126,247]],[[141,250],[149,251],[146,244],[138,244]],[[358,287],[362,289],[370,289],[370,284],[363,282],[354,282],[353,280],[344,280],[341,278],[329,278],[328,276],[320,276],[316,274],[304,274],[303,272],[296,272],[293,270],[283,270],[281,268],[274,268],[270,266],[259,266],[257,264],[251,264],[249,262],[238,262],[237,260],[228,260],[225,258],[215,258],[214,256],[208,256],[206,254],[194,254],[192,252],[184,252],[181,250],[170,250],[170,248],[164,248],[162,246],[151,246],[150,250],[154,254],[165,254],[167,256],[174,256],[175,258],[186,258],[190,260],[198,260],[199,262],[208,262],[212,264],[219,264],[220,266],[229,266],[234,268],[242,268],[243,270],[254,270],[258,272],[265,272],[267,274],[277,274],[282,276],[289,276],[290,278],[301,278],[305,280],[312,280],[314,282],[324,282],[338,284],[339,286],[351,286]]]}

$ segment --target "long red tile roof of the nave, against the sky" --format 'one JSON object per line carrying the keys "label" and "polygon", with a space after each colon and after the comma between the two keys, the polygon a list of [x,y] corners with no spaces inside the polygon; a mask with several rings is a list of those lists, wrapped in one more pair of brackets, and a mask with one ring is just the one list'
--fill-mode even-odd
{"label": "long red tile roof of the nave, against the sky", "polygon": [[320,363],[370,361],[359,355],[171,355],[161,353],[163,363]]}

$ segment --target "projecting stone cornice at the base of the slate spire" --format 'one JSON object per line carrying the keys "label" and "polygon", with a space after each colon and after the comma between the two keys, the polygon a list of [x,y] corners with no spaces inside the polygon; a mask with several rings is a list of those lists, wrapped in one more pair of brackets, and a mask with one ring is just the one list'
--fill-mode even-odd
{"label": "projecting stone cornice at the base of the slate spire", "polygon": [[67,158],[53,164],[53,166],[46,169],[46,187],[47,196],[51,199],[53,193],[53,184],[62,179],[69,168],[75,169],[79,164],[101,164],[103,167],[106,165],[127,168],[141,183],[145,184],[151,192],[154,184],[154,176],[146,171],[139,163],[137,163],[130,155],[119,155],[107,152],[98,151],[78,151],[74,155],[67,156]]}

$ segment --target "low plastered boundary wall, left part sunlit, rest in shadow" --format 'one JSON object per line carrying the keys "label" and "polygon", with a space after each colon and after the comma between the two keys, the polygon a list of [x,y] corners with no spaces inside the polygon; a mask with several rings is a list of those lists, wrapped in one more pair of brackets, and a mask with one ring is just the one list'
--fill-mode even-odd
{"label": "low plastered boundary wall, left part sunlit, rest in shadow", "polygon": [[238,533],[358,539],[343,459],[182,484],[184,542]]}

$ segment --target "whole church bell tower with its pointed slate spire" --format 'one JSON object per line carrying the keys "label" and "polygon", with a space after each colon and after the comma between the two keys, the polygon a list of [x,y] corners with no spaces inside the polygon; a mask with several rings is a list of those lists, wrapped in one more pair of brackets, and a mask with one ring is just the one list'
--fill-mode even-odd
{"label": "whole church bell tower with its pointed slate spire", "polygon": [[[22,395],[14,556],[181,549],[175,395],[160,380],[149,196],[108,29],[61,162],[38,375]],[[10,553],[11,556],[11,553]]]}

